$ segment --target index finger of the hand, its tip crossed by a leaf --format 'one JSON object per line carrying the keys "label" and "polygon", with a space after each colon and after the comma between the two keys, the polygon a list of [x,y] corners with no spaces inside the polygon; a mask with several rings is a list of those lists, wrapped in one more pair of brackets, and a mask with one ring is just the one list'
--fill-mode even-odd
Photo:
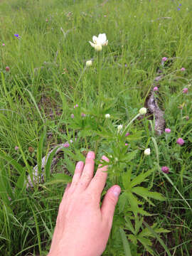
{"label": "index finger of the hand, its tip crossed by a leaf", "polygon": [[[107,159],[106,156],[102,156],[102,160],[109,162],[110,160]],[[90,185],[87,189],[93,191],[96,195],[100,196],[103,188],[105,187],[105,183],[107,180],[107,168],[108,166],[102,166],[100,164],[95,176],[92,178],[92,181],[90,182]]]}

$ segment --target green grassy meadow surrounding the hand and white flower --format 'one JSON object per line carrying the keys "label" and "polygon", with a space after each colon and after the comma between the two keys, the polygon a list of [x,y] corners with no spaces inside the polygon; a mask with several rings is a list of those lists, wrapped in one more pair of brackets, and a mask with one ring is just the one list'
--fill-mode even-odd
{"label": "green grassy meadow surrounding the hand and white flower", "polygon": [[[110,157],[107,186],[122,187],[103,255],[191,255],[191,11],[190,0],[0,2],[2,255],[48,253],[66,173],[73,175],[75,161],[85,159],[88,149],[97,159]],[[88,43],[99,33],[109,40],[101,56],[100,97],[97,53]],[[90,59],[92,66],[85,68]],[[171,133],[157,137],[149,129],[153,122],[144,118],[135,119],[124,138],[117,125],[126,127],[144,106],[159,68],[164,78],[157,97]],[[183,146],[176,144],[178,137]],[[26,177],[36,164],[41,173],[41,157],[70,139],[75,142],[60,153],[55,167],[62,174],[50,175],[48,166],[46,183],[27,190]],[[147,147],[150,156],[143,154]],[[161,166],[169,166],[169,174]],[[142,190],[132,200],[128,181],[138,176],[148,196]],[[150,202],[149,189],[166,201],[150,194]],[[139,201],[151,216],[139,213]],[[161,234],[159,228],[170,232]],[[142,231],[149,237],[139,237]]]}

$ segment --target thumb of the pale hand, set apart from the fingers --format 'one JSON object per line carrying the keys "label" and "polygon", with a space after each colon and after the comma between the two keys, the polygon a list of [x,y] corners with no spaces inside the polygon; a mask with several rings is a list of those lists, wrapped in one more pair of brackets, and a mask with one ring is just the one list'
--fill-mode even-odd
{"label": "thumb of the pale hand, set apart from the fingers", "polygon": [[108,223],[110,229],[112,227],[112,219],[114,215],[114,208],[117,205],[121,188],[118,185],[112,186],[106,193],[102,202],[102,220]]}

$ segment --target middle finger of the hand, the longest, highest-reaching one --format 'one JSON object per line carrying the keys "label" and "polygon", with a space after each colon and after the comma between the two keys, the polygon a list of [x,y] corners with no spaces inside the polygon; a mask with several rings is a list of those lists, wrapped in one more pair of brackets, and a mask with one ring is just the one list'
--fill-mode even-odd
{"label": "middle finger of the hand, the longest, highest-reaching one", "polygon": [[80,190],[84,190],[89,185],[92,180],[94,165],[95,165],[95,153],[93,151],[89,151],[87,157],[85,159],[85,166],[82,171],[82,175],[80,176],[80,180],[78,182],[78,187]]}

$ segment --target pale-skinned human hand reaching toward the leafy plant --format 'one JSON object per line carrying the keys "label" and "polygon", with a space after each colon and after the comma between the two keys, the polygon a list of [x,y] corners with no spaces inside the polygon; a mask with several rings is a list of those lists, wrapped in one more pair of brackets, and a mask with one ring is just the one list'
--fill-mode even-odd
{"label": "pale-skinned human hand reaching toward the leafy plant", "polygon": [[[100,256],[105,250],[121,188],[112,186],[100,207],[107,166],[99,166],[93,176],[94,159],[95,153],[89,151],[65,188],[48,256]],[[106,156],[102,159],[109,162]]]}

